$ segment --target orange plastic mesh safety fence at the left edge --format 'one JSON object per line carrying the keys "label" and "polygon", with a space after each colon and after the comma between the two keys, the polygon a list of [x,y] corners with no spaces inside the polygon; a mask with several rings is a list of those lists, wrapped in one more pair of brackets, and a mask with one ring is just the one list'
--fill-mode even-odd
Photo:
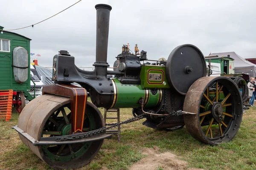
{"label": "orange plastic mesh safety fence at the left edge", "polygon": [[0,90],[0,119],[9,121],[12,116],[13,90]]}

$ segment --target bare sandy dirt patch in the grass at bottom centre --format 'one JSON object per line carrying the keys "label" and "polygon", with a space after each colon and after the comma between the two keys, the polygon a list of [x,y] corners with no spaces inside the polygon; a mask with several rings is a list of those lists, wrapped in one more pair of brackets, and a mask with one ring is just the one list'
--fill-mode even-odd
{"label": "bare sandy dirt patch in the grass at bottom centre", "polygon": [[[157,170],[162,168],[164,170],[187,170],[187,162],[177,158],[176,155],[165,152],[160,153],[158,147],[145,148],[143,152],[147,157],[141,159],[139,162],[129,168],[129,170]],[[202,170],[196,168],[189,168],[188,170]]]}

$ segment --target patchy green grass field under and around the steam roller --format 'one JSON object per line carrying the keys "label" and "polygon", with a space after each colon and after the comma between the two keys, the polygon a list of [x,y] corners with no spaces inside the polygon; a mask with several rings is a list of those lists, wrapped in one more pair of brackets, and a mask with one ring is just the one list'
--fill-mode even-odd
{"label": "patchy green grass field under and around the steam roller", "polygon": [[[131,118],[131,109],[121,109],[120,115],[121,120]],[[9,122],[0,120],[0,169],[51,169],[20,141],[16,131],[11,128],[17,125],[18,117],[19,114],[14,112]],[[193,139],[186,127],[173,132],[157,131],[143,126],[144,120],[122,125],[121,143],[117,142],[116,136],[106,139],[93,161],[80,170],[127,170],[141,159],[146,160],[148,154],[144,151],[151,148],[157,148],[159,153],[170,152],[177,159],[187,162],[185,166],[169,164],[173,169],[256,170],[256,107],[244,113],[239,132],[232,142],[214,147]],[[156,170],[165,168],[159,164]]]}

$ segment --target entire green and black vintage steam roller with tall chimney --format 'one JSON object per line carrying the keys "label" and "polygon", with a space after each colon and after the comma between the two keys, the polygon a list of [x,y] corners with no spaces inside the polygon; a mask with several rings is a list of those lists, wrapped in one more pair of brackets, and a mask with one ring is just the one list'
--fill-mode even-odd
{"label": "entire green and black vintage steam roller with tall chimney", "polygon": [[[158,130],[186,125],[192,137],[216,145],[232,140],[242,119],[242,99],[236,83],[212,77],[202,52],[191,44],[177,46],[168,59],[147,59],[135,45],[122,45],[113,71],[107,70],[111,6],[96,8],[96,61],[93,71],[76,67],[65,50],[53,57],[52,80],[43,95],[33,99],[13,128],[22,142],[55,169],[78,168],[98,153],[111,135],[99,111],[132,108],[131,119]],[[157,56],[155,56],[157,57]],[[71,85],[76,82],[81,87]],[[91,102],[87,101],[90,94]],[[165,131],[162,131],[166,133]]]}

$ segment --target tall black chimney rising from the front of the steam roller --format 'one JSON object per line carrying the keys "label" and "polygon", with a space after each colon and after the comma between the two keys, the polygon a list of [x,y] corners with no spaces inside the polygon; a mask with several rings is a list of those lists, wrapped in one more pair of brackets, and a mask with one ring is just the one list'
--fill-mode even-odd
{"label": "tall black chimney rising from the front of the steam roller", "polygon": [[108,29],[109,29],[109,15],[112,9],[106,4],[97,4],[96,8],[96,62],[94,66],[106,66],[108,53]]}

